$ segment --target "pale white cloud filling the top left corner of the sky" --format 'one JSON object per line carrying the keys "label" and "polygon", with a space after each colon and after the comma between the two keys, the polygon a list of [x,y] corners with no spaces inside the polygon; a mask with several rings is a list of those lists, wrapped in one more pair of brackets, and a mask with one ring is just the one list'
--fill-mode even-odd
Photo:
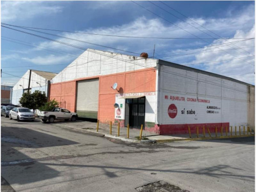
{"label": "pale white cloud filling the top left corner of the sky", "polygon": [[39,1],[2,1],[2,22],[25,20],[36,15],[58,13],[60,6]]}

